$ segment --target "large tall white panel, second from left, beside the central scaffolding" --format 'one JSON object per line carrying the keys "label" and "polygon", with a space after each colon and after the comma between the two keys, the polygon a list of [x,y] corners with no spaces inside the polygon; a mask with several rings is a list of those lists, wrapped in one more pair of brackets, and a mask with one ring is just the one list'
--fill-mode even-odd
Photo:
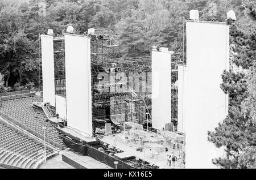
{"label": "large tall white panel, second from left, beside the central scaffolding", "polygon": [[68,126],[92,135],[90,39],[65,35]]}

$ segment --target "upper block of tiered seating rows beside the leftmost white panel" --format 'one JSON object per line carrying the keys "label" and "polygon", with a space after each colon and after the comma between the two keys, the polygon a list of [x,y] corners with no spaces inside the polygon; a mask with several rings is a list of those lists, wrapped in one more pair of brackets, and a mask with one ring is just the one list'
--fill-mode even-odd
{"label": "upper block of tiered seating rows beside the leftmost white panel", "polygon": [[60,134],[56,130],[56,125],[47,121],[42,109],[32,108],[32,102],[42,102],[42,97],[31,96],[2,101],[0,111],[41,135],[44,134],[42,127],[47,127],[46,137],[64,147]]}

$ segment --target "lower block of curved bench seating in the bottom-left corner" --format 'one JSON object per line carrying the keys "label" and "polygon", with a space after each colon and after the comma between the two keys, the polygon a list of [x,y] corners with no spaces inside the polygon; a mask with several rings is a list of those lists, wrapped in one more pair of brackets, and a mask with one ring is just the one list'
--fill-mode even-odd
{"label": "lower block of curved bench seating in the bottom-left corner", "polygon": [[[52,153],[47,148],[46,154]],[[34,168],[44,158],[44,146],[0,122],[0,163]]]}

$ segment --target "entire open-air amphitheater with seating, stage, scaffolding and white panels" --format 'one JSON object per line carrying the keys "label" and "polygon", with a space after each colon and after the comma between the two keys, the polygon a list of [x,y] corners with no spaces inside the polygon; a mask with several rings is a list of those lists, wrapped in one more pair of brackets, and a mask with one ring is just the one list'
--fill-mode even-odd
{"label": "entire open-air amphitheater with seating, stage, scaffolding and white panels", "polygon": [[159,46],[119,58],[120,37],[110,29],[46,29],[40,88],[0,93],[0,167],[212,168],[224,156],[207,131],[228,109],[220,83],[229,25],[193,13],[183,22],[186,61]]}

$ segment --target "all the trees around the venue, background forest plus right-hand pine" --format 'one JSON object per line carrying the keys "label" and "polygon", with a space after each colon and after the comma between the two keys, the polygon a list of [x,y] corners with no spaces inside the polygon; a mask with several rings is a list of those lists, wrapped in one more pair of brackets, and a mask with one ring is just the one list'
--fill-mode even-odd
{"label": "all the trees around the venue, background forest plus right-hand pine", "polygon": [[214,159],[221,168],[256,168],[256,28],[254,0],[0,0],[0,92],[38,86],[40,34],[55,35],[72,25],[109,28],[121,37],[123,56],[148,54],[152,45],[183,51],[183,19],[199,10],[230,25],[230,61],[241,71],[224,71],[220,88],[229,93],[229,115],[208,140],[225,147]]}

